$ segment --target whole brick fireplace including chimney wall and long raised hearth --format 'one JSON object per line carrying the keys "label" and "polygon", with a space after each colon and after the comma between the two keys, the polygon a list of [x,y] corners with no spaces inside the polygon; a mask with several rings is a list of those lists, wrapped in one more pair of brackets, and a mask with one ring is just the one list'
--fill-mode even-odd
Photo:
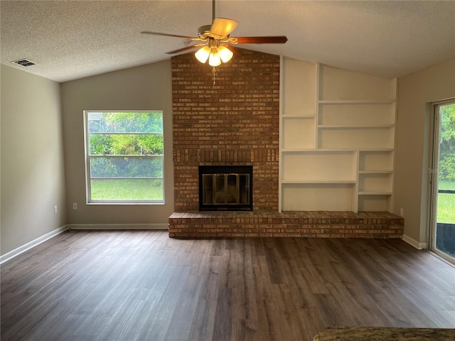
{"label": "whole brick fireplace including chimney wall and long raised hearth", "polygon": [[[172,58],[174,205],[169,237],[400,238],[387,212],[278,212],[279,56],[235,48],[215,72]],[[252,211],[200,212],[199,166],[252,166]]]}

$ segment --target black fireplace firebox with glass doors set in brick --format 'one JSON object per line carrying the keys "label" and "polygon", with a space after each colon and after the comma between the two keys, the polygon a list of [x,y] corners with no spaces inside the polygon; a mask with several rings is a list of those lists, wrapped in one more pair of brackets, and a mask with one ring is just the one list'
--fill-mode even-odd
{"label": "black fireplace firebox with glass doors set in brick", "polygon": [[200,211],[252,211],[252,166],[199,166]]}

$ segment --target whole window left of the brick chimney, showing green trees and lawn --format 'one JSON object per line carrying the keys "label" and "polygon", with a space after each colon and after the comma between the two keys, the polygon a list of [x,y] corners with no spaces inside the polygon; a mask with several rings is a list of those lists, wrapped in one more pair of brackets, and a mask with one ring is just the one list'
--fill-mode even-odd
{"label": "whole window left of the brick chimney, showing green trees and lawn", "polygon": [[85,111],[87,202],[164,203],[163,112]]}

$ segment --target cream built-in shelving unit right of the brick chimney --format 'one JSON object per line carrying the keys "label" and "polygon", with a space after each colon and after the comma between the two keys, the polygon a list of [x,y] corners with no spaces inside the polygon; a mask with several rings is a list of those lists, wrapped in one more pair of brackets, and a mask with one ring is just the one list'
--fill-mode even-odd
{"label": "cream built-in shelving unit right of the brick chimney", "polygon": [[279,210],[392,212],[396,80],[282,58]]}

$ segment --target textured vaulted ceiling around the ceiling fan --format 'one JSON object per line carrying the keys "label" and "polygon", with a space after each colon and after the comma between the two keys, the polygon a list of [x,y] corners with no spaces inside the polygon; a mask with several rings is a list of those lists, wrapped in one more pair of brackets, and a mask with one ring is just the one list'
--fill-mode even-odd
{"label": "textured vaulted ceiling around the ceiling fan", "polygon": [[[239,45],[383,77],[455,58],[455,1],[216,1],[231,36],[286,35]],[[0,1],[1,63],[65,82],[170,58],[212,20],[212,1]],[[235,58],[235,57],[234,57]]]}

